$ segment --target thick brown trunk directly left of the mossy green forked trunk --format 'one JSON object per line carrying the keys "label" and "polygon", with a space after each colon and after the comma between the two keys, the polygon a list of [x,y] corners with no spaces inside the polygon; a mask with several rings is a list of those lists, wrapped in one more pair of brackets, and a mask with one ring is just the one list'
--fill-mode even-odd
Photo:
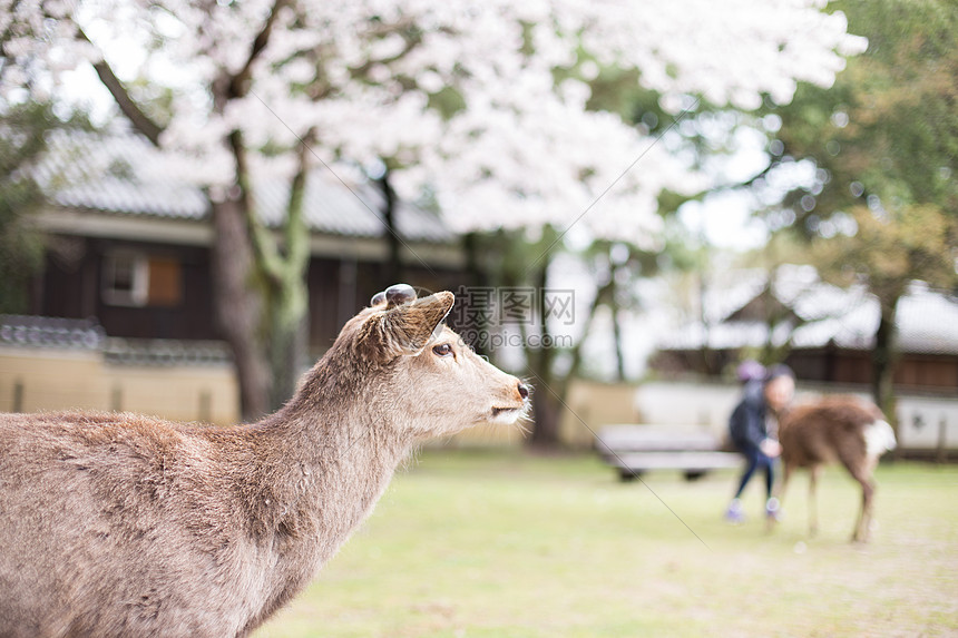
{"label": "thick brown trunk directly left of the mossy green forked trunk", "polygon": [[213,202],[214,315],[233,351],[244,421],[268,411],[270,371],[262,343],[262,301],[253,285],[253,251],[242,203]]}

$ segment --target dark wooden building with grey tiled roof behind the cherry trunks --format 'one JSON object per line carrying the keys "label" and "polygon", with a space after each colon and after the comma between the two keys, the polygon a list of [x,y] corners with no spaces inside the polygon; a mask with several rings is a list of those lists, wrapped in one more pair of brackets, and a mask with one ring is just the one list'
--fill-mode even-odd
{"label": "dark wooden building with grey tiled roof behind the cherry trunks", "polygon": [[[124,130],[56,131],[36,177],[48,199],[36,216],[48,251],[32,286],[30,314],[95,317],[109,337],[199,342],[219,336],[212,320],[208,199],[177,178],[148,140]],[[310,340],[316,352],[397,276],[389,272],[381,190],[341,177],[317,168],[304,196],[312,257]],[[264,224],[277,227],[289,183],[260,178],[252,192]],[[393,216],[405,276],[426,288],[460,284],[458,237],[441,218],[404,202]]]}

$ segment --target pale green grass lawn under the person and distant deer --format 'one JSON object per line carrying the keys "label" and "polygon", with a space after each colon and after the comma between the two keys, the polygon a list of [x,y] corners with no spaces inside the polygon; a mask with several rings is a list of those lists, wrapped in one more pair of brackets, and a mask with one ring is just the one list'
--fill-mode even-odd
{"label": "pale green grass lawn under the person and distant deer", "polygon": [[771,536],[760,480],[731,527],[733,473],[644,479],[593,457],[426,452],[256,637],[958,636],[958,467],[880,467],[868,546],[848,542],[860,491],[840,468],[815,539],[803,474]]}

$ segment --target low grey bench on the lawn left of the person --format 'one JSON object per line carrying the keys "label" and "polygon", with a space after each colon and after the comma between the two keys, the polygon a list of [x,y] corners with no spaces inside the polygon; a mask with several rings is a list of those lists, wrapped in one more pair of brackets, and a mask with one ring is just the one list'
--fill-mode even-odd
{"label": "low grey bench on the lawn left of the person", "polygon": [[711,470],[740,468],[742,457],[723,452],[711,432],[662,425],[606,425],[596,435],[596,450],[618,472],[633,481],[649,470],[680,470],[694,481]]}

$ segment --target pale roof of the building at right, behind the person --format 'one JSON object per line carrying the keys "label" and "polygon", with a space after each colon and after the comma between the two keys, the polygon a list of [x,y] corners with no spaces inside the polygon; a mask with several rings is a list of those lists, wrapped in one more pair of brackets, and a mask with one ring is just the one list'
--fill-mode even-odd
{"label": "pale roof of the building at right, behind the person", "polygon": [[[799,350],[829,343],[847,350],[870,350],[880,317],[878,300],[861,286],[839,288],[817,276],[809,277],[804,269],[791,268],[780,271],[773,294],[803,323],[779,326],[772,343],[781,345],[791,335],[791,346]],[[753,282],[745,285],[754,289]],[[958,298],[912,282],[899,300],[896,327],[902,352],[958,355]],[[735,350],[762,346],[768,338],[768,326],[757,321],[718,321],[707,330],[702,322],[693,322],[664,334],[658,349],[698,350],[707,344],[714,350]]]}

